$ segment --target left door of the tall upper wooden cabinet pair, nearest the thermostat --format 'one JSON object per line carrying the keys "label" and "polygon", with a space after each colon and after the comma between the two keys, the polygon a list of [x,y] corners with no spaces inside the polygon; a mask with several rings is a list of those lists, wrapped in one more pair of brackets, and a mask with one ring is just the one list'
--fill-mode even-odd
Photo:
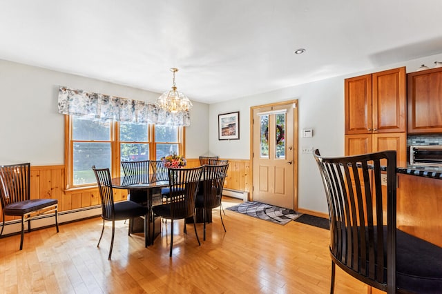
{"label": "left door of the tall upper wooden cabinet pair, nearest the thermostat", "polygon": [[345,79],[345,134],[372,133],[372,75]]}

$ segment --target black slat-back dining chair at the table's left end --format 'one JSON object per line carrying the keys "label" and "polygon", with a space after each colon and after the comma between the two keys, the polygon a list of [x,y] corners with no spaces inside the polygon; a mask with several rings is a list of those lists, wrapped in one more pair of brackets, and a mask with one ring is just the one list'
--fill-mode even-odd
{"label": "black slat-back dining chair at the table's left end", "polygon": [[[115,236],[115,221],[133,219],[134,217],[144,217],[144,246],[147,247],[149,240],[149,209],[130,200],[114,202],[112,178],[109,168],[95,168],[95,166],[93,166],[92,169],[95,173],[95,178],[97,179],[99,195],[100,199],[102,200],[103,228],[102,234],[99,236],[97,247],[99,247],[99,243],[102,241],[105,222],[112,222],[111,248],[109,248],[108,255],[108,259],[111,259],[113,240]],[[130,229],[128,229],[128,235],[131,235]]]}

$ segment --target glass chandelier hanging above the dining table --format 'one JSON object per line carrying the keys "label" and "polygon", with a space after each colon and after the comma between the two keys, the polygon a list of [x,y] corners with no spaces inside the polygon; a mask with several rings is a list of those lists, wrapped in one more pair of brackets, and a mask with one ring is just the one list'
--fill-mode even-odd
{"label": "glass chandelier hanging above the dining table", "polygon": [[155,105],[167,112],[184,112],[192,108],[192,102],[182,92],[177,91],[175,85],[175,72],[177,68],[171,68],[173,72],[172,90],[164,92],[156,101]]}

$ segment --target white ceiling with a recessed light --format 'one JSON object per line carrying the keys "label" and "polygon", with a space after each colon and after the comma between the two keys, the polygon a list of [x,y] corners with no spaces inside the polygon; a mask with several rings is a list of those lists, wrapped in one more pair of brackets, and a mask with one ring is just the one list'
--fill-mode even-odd
{"label": "white ceiling with a recessed light", "polygon": [[440,0],[0,2],[0,59],[154,92],[176,67],[209,104],[441,52]]}

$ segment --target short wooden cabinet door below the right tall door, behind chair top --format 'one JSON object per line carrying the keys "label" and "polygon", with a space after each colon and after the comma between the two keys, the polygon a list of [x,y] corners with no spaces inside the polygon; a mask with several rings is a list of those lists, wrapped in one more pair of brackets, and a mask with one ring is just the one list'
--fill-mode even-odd
{"label": "short wooden cabinet door below the right tall door, behind chair top", "polygon": [[407,166],[407,133],[374,134],[373,152],[385,150],[396,150],[396,166]]}

